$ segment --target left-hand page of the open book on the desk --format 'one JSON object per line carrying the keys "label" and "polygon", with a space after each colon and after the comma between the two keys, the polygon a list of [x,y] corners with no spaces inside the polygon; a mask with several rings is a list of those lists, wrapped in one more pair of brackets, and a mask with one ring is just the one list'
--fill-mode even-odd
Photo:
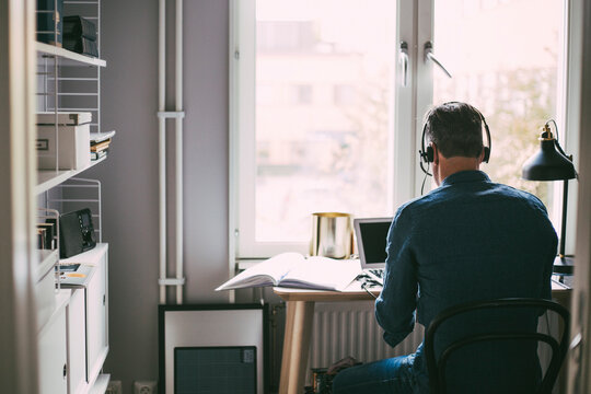
{"label": "left-hand page of the open book on the desk", "polygon": [[216,290],[277,286],[292,267],[298,266],[303,260],[304,257],[299,253],[288,252],[278,254],[240,273]]}

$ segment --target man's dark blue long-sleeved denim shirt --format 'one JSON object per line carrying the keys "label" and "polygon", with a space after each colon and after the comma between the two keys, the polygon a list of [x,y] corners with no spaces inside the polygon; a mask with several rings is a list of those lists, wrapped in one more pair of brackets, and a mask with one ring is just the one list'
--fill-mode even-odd
{"label": "man's dark blue long-sleeved denim shirt", "polygon": [[375,316],[391,346],[444,309],[470,301],[551,299],[557,236],[535,196],[480,171],[448,176],[403,205],[387,234]]}

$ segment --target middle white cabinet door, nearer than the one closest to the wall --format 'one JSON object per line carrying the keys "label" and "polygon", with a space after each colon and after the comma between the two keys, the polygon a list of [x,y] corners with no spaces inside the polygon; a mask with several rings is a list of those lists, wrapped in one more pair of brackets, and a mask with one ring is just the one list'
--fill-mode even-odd
{"label": "middle white cabinet door, nearer than the one closest to the wall", "polygon": [[80,393],[86,385],[86,323],[84,289],[72,292],[68,305],[68,363],[70,393]]}

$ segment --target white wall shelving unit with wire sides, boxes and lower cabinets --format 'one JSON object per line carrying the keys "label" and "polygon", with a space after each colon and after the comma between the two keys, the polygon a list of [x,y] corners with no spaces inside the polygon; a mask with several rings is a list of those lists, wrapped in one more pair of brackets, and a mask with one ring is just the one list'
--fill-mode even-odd
{"label": "white wall shelving unit with wire sides, boxes and lower cabinets", "polygon": [[[65,15],[81,15],[97,27],[100,50],[101,25],[100,0],[63,0]],[[39,13],[42,14],[42,13]],[[57,27],[56,27],[57,28]],[[56,33],[57,36],[57,33]],[[106,61],[71,50],[35,43],[37,53],[37,112],[90,112],[91,132],[101,128],[101,69]],[[60,169],[59,132],[55,129],[57,148],[55,170],[38,170],[35,194],[40,209],[62,211],[71,192],[68,182],[80,173],[100,164],[106,157],[91,161],[90,165],[70,170]],[[63,148],[63,147],[62,147]],[[90,147],[89,147],[90,152]],[[88,181],[88,179],[86,179]],[[91,181],[95,182],[95,181]],[[96,190],[101,221],[100,183]],[[55,197],[57,196],[57,197]],[[69,199],[68,199],[69,198]],[[49,207],[49,201],[58,201],[58,207]],[[93,215],[93,221],[95,220]],[[47,217],[39,215],[39,222]],[[100,233],[100,232],[99,232]],[[56,240],[59,245],[59,240]],[[51,394],[105,393],[109,375],[102,374],[102,367],[108,354],[108,245],[97,244],[95,248],[72,256],[59,258],[59,248],[38,251],[36,266],[37,321],[39,346],[40,392]],[[76,263],[85,267],[88,277],[80,286],[60,281],[62,264]],[[92,268],[89,268],[92,267]]]}

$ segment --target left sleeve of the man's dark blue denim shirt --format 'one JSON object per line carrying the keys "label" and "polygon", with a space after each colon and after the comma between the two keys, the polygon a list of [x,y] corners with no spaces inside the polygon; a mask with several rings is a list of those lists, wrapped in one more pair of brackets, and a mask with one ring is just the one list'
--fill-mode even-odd
{"label": "left sleeve of the man's dark blue denim shirt", "polygon": [[415,326],[418,285],[410,223],[401,208],[387,234],[384,287],[375,300],[375,317],[384,329],[384,340],[392,347]]}

